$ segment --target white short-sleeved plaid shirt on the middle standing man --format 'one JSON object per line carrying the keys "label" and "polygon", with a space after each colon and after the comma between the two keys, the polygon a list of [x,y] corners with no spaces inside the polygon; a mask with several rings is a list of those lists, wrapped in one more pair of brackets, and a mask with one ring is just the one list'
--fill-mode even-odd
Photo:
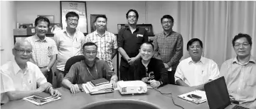
{"label": "white short-sleeved plaid shirt on the middle standing man", "polygon": [[95,32],[86,35],[85,42],[94,42],[97,45],[97,57],[105,60],[110,66],[110,69],[114,69],[112,62],[112,49],[117,49],[117,36],[113,33],[105,31],[102,36]]}

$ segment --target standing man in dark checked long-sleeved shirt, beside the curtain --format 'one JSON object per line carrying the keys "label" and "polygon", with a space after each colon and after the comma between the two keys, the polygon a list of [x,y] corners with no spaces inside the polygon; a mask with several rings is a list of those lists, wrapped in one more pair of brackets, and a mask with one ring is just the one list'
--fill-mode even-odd
{"label": "standing man in dark checked long-sleeved shirt, beside the curtain", "polygon": [[172,30],[174,26],[174,18],[172,16],[164,15],[161,18],[161,25],[164,31],[155,35],[153,41],[156,47],[154,57],[164,62],[164,67],[169,69],[169,84],[175,84],[174,74],[178,62],[183,56],[183,38],[180,33]]}

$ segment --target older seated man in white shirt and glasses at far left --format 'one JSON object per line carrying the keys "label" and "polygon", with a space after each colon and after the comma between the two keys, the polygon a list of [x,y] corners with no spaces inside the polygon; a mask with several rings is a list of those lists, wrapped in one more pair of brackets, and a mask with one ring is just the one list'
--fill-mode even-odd
{"label": "older seated man in white shirt and glasses at far left", "polygon": [[12,53],[15,62],[7,62],[1,66],[1,103],[15,101],[42,91],[50,93],[51,96],[61,96],[60,92],[54,90],[47,82],[38,66],[28,62],[32,57],[30,42],[16,42]]}

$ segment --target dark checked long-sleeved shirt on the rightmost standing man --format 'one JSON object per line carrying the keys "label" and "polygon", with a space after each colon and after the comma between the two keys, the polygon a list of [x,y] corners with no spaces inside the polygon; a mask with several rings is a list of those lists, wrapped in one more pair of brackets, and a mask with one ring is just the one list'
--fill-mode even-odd
{"label": "dark checked long-sleeved shirt on the rightmost standing man", "polygon": [[183,38],[181,34],[174,31],[169,35],[164,32],[159,33],[155,35],[153,45],[155,47],[154,57],[176,69],[179,60],[183,56]]}

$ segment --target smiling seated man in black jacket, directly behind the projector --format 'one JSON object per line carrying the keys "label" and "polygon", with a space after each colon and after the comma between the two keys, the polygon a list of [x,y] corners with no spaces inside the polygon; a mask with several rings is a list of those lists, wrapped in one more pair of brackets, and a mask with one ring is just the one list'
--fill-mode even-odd
{"label": "smiling seated man in black jacket, directly behind the projector", "polygon": [[154,45],[144,42],[139,50],[140,59],[137,59],[129,69],[129,74],[134,74],[133,80],[142,80],[149,83],[152,88],[167,84],[168,75],[161,59],[152,58]]}

